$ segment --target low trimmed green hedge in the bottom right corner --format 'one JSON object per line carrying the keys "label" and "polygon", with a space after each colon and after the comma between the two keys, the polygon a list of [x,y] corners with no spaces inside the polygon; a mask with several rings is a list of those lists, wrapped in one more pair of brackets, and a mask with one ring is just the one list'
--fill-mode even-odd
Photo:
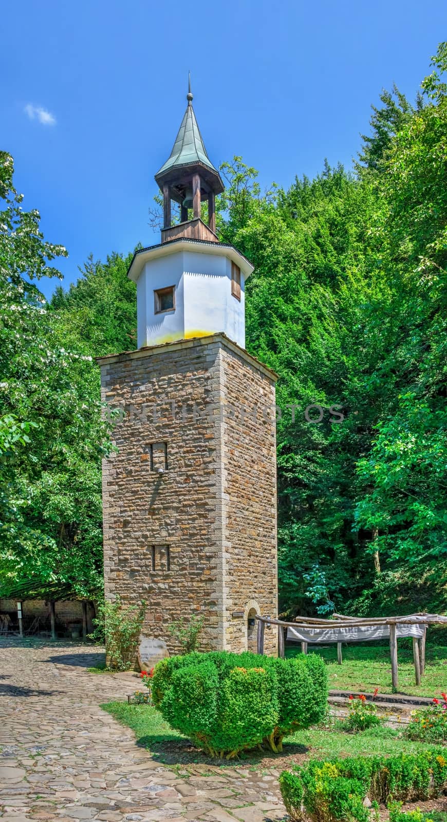
{"label": "low trimmed green hedge in the bottom right corner", "polygon": [[343,760],[311,760],[283,771],[279,787],[292,820],[302,822],[368,822],[363,804],[417,801],[447,790],[445,750],[419,754],[358,756]]}

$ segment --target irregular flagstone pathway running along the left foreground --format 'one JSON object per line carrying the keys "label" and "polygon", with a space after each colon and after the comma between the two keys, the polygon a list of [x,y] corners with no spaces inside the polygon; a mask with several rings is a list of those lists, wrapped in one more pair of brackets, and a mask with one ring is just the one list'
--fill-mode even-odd
{"label": "irregular flagstone pathway running along the left foreground", "polygon": [[286,820],[279,772],[195,764],[177,769],[136,746],[99,708],[138,681],[94,674],[99,649],[0,638],[0,817],[104,822]]}

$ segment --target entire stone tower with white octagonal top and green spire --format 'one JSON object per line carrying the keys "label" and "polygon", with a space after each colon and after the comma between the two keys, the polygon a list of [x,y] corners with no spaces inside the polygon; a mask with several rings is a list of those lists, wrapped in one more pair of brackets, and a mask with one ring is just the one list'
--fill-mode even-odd
{"label": "entire stone tower with white octagonal top and green spire", "polygon": [[[256,650],[256,613],[277,617],[276,377],[245,350],[253,267],[215,233],[224,186],[191,101],[190,85],[155,175],[161,243],[128,271],[138,349],[98,360],[102,399],[121,412],[103,465],[105,595],[145,599],[143,633],[171,652],[168,623],[193,613],[205,617],[203,649]],[[265,653],[277,653],[274,629]]]}

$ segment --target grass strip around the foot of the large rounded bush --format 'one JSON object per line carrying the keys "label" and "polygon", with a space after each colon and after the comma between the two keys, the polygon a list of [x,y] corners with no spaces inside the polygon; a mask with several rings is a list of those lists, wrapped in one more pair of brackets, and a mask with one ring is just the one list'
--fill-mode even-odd
{"label": "grass strip around the foot of the large rounded bush", "polygon": [[[128,704],[127,702],[108,702],[101,707],[111,713],[118,722],[131,727],[135,732],[136,742],[150,750],[161,762],[169,764],[210,763],[205,754],[191,747],[184,737],[173,731],[164,722],[159,711],[151,705]],[[428,748],[421,742],[412,742],[399,737],[399,731],[390,727],[375,727],[369,731],[350,734],[334,728],[310,728],[288,737],[283,742],[283,754],[271,753],[247,754],[237,760],[250,762],[253,766],[263,768],[286,768],[292,761],[302,762],[311,756],[330,758],[338,755],[356,756],[373,754],[398,754],[402,751],[417,753]],[[218,760],[219,765],[237,764]]]}

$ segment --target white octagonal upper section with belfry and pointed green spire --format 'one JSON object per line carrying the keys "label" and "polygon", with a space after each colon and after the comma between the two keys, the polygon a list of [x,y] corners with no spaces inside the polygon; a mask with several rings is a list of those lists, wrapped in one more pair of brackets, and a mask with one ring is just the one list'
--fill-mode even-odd
{"label": "white octagonal upper section with belfry and pointed green spire", "polygon": [[[206,153],[192,108],[187,110],[166,163],[155,174],[163,192],[161,243],[136,252],[129,277],[136,283],[138,347],[221,331],[245,348],[245,283],[253,266],[215,233],[215,196],[224,191]],[[171,224],[171,203],[181,221]],[[208,203],[208,225],[201,204]]]}

